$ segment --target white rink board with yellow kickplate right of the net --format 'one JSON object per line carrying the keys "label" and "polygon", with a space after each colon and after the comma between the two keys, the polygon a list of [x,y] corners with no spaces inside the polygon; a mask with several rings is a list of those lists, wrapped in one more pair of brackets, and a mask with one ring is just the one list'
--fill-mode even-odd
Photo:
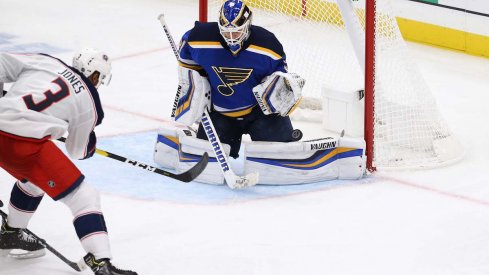
{"label": "white rink board with yellow kickplate right of the net", "polygon": [[489,1],[397,1],[399,28],[406,40],[489,57]]}

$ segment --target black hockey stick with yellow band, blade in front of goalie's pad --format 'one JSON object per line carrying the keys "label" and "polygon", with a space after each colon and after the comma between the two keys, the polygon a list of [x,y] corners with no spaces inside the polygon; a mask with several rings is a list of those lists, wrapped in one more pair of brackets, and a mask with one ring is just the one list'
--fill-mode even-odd
{"label": "black hockey stick with yellow band, blade in front of goalie's pad", "polygon": [[[65,142],[66,138],[61,137],[58,140]],[[134,167],[139,167],[141,169],[144,169],[144,170],[156,173],[156,174],[160,174],[163,176],[167,176],[170,178],[174,178],[176,180],[183,181],[183,182],[191,182],[196,177],[198,177],[200,175],[200,173],[202,173],[202,171],[204,171],[205,167],[207,166],[207,162],[209,161],[209,155],[207,153],[204,153],[204,155],[202,156],[200,161],[196,165],[194,165],[192,168],[190,168],[189,170],[187,170],[181,174],[173,174],[173,173],[170,173],[168,171],[161,170],[159,168],[153,167],[151,165],[144,164],[144,163],[136,161],[136,160],[128,159],[126,157],[119,156],[119,155],[116,155],[114,153],[110,153],[110,152],[103,151],[100,149],[96,149],[95,152],[101,156],[108,157],[111,159],[115,159],[115,160],[118,160],[121,162],[125,162],[125,163],[130,164]]]}

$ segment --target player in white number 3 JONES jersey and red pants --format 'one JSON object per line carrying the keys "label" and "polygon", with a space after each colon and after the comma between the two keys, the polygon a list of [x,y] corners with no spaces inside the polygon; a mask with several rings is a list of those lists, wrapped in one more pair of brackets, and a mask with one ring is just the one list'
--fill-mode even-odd
{"label": "player in white number 3 JONES jersey and red pants", "polygon": [[4,252],[44,255],[43,245],[21,229],[47,193],[71,210],[88,253],[84,260],[95,274],[137,274],[112,265],[99,193],[51,141],[68,132],[66,149],[72,158],[95,153],[94,128],[104,117],[97,88],[110,79],[111,62],[96,49],[76,53],[72,67],[45,54],[0,53],[0,90],[13,82],[0,98],[0,167],[18,179],[0,230]]}

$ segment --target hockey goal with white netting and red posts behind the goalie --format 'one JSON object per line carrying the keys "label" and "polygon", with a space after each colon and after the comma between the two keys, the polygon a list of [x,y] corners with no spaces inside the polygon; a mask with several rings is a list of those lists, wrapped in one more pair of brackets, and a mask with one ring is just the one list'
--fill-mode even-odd
{"label": "hockey goal with white netting and red posts behind the goalie", "polygon": [[[224,0],[199,0],[217,21]],[[409,57],[391,0],[244,0],[253,24],[275,34],[291,72],[306,79],[300,108],[321,108],[321,89],[365,90],[367,168],[419,169],[458,161],[463,148]]]}

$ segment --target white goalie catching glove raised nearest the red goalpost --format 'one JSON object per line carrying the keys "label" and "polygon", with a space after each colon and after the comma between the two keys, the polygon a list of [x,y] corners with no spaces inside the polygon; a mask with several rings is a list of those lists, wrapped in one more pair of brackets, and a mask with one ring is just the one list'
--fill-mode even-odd
{"label": "white goalie catching glove raised nearest the red goalpost", "polygon": [[253,95],[265,115],[288,116],[299,105],[305,82],[295,73],[274,72],[253,88]]}

